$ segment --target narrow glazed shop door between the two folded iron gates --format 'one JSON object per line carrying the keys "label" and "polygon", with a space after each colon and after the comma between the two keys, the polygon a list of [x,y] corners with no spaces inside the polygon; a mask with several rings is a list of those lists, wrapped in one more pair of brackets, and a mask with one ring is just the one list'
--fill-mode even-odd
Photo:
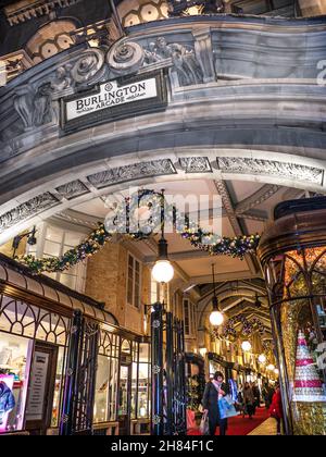
{"label": "narrow glazed shop door between the two folded iron gates", "polygon": [[131,395],[131,365],[120,368],[118,385],[118,430],[121,435],[130,434],[130,395]]}

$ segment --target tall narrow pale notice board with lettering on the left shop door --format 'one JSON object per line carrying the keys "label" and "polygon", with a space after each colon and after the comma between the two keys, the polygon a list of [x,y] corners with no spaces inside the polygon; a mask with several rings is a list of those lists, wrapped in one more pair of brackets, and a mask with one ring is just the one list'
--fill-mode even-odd
{"label": "tall narrow pale notice board with lettering on the left shop door", "polygon": [[40,351],[35,351],[34,355],[30,386],[26,408],[26,420],[28,421],[43,419],[49,356],[49,354]]}

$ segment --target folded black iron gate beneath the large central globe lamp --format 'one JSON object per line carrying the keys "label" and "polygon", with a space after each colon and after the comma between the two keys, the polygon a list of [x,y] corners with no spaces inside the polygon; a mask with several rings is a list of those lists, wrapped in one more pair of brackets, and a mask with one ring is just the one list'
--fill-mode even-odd
{"label": "folded black iron gate beneath the large central globe lamp", "polygon": [[[164,338],[165,333],[165,338]],[[164,351],[163,344],[166,343]],[[185,336],[183,321],[155,304],[151,313],[153,435],[183,435],[186,422]]]}

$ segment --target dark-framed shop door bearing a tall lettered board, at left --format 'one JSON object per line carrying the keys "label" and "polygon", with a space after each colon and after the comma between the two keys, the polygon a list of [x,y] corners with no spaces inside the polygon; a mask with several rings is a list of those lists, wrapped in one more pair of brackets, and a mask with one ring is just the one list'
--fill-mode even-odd
{"label": "dark-framed shop door bearing a tall lettered board, at left", "polygon": [[51,424],[58,346],[36,342],[29,378],[26,430],[46,434]]}

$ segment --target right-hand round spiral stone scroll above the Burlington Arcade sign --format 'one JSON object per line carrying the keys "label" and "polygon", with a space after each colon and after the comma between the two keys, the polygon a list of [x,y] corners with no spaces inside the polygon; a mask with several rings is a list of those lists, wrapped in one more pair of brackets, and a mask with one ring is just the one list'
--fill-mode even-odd
{"label": "right-hand round spiral stone scroll above the Burlington Arcade sign", "polygon": [[145,51],[140,45],[133,41],[117,42],[108,53],[110,70],[117,75],[136,73],[142,66]]}

